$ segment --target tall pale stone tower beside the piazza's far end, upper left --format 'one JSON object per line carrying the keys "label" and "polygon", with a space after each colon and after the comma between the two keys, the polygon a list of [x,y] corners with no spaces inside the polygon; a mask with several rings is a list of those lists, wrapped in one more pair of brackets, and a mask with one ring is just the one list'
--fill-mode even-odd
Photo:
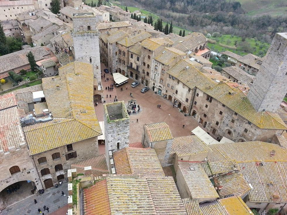
{"label": "tall pale stone tower beside the piazza's far end, upper left", "polygon": [[102,21],[93,12],[73,13],[75,61],[93,64],[94,77],[101,81],[99,32],[96,23]]}

